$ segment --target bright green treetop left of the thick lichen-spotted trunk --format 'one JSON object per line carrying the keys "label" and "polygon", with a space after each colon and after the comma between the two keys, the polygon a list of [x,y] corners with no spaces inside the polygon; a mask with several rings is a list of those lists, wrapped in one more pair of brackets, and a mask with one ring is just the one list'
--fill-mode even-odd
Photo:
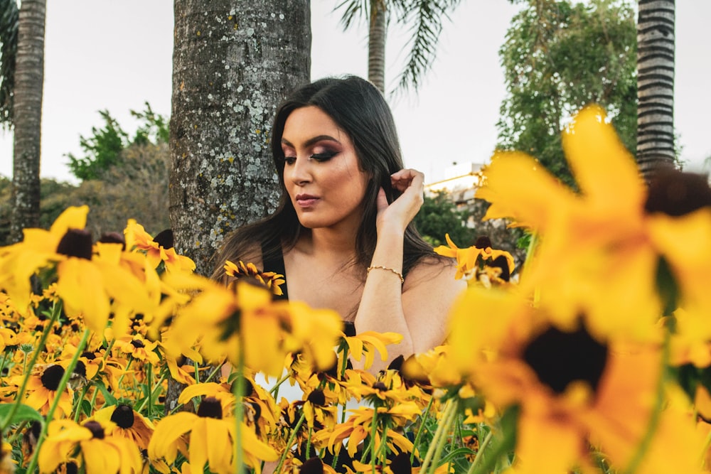
{"label": "bright green treetop left of the thick lichen-spotted trunk", "polygon": [[104,126],[100,129],[92,127],[91,136],[80,136],[79,143],[84,156],[67,154],[69,158],[67,166],[74,176],[81,181],[100,179],[102,173],[110,168],[122,166],[121,152],[129,146],[168,142],[167,119],[159,114],[156,115],[148,102],[143,112],[134,110],[130,112],[142,121],[132,139],[129,139],[129,134],[121,128],[108,110],[99,112],[104,120]]}

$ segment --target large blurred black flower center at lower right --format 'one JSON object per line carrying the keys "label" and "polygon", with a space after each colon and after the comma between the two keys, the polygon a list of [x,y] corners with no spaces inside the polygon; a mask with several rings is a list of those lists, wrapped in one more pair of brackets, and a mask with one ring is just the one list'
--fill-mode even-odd
{"label": "large blurred black flower center at lower right", "polygon": [[589,383],[597,391],[607,362],[607,345],[594,340],[585,328],[572,333],[548,328],[525,348],[523,359],[538,379],[557,394],[577,380]]}

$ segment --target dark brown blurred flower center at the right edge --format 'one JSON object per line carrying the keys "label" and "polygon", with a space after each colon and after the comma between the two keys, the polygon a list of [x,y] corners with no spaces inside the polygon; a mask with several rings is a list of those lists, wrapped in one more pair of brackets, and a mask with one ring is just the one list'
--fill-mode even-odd
{"label": "dark brown blurred flower center at the right edge", "polygon": [[669,168],[652,179],[644,209],[679,217],[709,205],[711,188],[706,176]]}

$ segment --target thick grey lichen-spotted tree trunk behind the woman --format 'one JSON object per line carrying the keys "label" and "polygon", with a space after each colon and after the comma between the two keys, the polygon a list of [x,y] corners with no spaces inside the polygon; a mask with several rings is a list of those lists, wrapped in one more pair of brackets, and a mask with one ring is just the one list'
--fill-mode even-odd
{"label": "thick grey lichen-spotted tree trunk behind the woman", "polygon": [[[230,230],[274,211],[279,102],[309,81],[309,0],[175,0],[170,217],[176,251],[212,271]],[[166,411],[183,387],[169,379]]]}

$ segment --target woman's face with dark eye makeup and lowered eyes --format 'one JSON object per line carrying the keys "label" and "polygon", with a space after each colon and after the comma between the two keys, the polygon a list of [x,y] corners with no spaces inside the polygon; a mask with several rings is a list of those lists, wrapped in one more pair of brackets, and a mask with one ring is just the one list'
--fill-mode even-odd
{"label": "woman's face with dark eye makeup and lowered eyes", "polygon": [[304,227],[355,232],[368,174],[351,138],[318,107],[294,110],[284,123],[284,185]]}

